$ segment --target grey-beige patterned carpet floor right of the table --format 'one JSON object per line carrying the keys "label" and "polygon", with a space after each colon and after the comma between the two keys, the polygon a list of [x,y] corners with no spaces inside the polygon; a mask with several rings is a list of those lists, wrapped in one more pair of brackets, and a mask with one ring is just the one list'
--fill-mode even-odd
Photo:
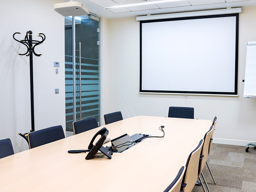
{"label": "grey-beige patterned carpet floor right of the table", "polygon": [[[213,144],[207,162],[217,183],[214,185],[205,165],[203,174],[211,192],[256,192],[256,149],[253,147],[246,153],[245,146]],[[192,192],[203,192],[203,188],[195,186]]]}

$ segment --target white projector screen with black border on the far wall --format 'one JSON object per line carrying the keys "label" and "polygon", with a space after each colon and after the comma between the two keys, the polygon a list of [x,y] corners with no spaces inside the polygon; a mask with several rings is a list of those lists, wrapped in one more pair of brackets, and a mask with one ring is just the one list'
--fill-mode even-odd
{"label": "white projector screen with black border on the far wall", "polygon": [[140,93],[237,95],[238,14],[140,21]]}

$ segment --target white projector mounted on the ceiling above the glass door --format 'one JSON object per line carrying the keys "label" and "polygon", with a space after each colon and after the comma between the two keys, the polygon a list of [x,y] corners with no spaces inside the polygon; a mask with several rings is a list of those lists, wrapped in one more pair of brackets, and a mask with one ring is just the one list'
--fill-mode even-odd
{"label": "white projector mounted on the ceiling above the glass door", "polygon": [[55,4],[54,10],[65,17],[68,17],[68,16],[76,17],[76,16],[89,14],[88,7],[86,7],[81,2],[72,1],[72,0],[70,2]]}

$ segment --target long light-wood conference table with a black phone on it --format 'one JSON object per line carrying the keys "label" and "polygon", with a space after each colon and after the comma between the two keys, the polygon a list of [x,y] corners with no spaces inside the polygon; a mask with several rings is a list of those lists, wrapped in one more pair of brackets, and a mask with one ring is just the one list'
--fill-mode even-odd
{"label": "long light-wood conference table with a black phone on it", "polygon": [[[114,139],[127,133],[148,138],[112,159],[69,154],[87,149],[94,134],[109,130]],[[210,120],[135,116],[0,159],[0,191],[164,191],[212,125]],[[95,141],[97,141],[96,139]],[[103,146],[110,146],[105,143]]]}

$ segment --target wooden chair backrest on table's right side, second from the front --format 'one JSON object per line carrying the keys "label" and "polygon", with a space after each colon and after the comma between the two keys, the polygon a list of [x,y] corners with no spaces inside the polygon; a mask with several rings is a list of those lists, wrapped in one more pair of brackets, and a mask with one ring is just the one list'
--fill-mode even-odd
{"label": "wooden chair backrest on table's right side, second from the front", "polygon": [[184,192],[191,192],[194,188],[197,178],[198,178],[198,167],[199,158],[202,151],[204,140],[202,139],[198,146],[189,154],[186,163],[186,170],[183,176],[183,183],[186,183],[186,187],[183,188]]}

